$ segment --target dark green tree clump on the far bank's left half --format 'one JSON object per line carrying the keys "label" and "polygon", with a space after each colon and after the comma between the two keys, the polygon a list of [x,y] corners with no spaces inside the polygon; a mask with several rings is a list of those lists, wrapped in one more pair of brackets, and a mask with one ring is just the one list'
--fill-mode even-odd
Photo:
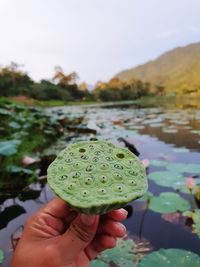
{"label": "dark green tree clump on the far bank's left half", "polygon": [[64,75],[58,83],[42,80],[35,83],[16,63],[0,68],[0,96],[25,95],[38,100],[76,100],[89,97],[88,91],[79,90],[75,73]]}

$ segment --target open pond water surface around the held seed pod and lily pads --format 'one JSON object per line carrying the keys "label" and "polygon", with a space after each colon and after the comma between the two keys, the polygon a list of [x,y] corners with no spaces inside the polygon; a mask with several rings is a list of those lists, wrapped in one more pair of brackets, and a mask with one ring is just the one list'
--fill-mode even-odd
{"label": "open pond water surface around the held seed pod and lily pads", "polygon": [[[106,139],[118,146],[126,145],[132,150],[136,149],[141,160],[148,159],[150,162],[147,170],[149,174],[170,169],[169,166],[173,163],[184,163],[188,169],[190,166],[197,169],[193,172],[191,167],[189,171],[183,171],[182,181],[188,176],[199,181],[199,110],[135,108],[134,105],[107,108],[63,107],[59,110],[60,114],[67,114],[72,119],[84,119],[76,131],[66,128],[65,135],[48,149],[61,149],[68,143],[80,140]],[[27,195],[24,193],[20,199],[7,199],[0,206],[0,248],[5,252],[2,266],[8,266],[13,247],[26,219],[53,197],[45,180],[32,184],[30,189],[32,191],[29,190]],[[149,179],[149,191],[153,195],[159,195],[161,192],[176,192],[177,188],[161,186]],[[193,195],[184,192],[179,190],[178,194],[187,199],[193,208],[197,208],[198,203],[194,202]],[[191,227],[186,223],[188,220],[181,213],[163,215],[147,210],[146,203],[139,200],[130,203],[127,209],[129,218],[125,225],[128,234],[136,239],[140,238],[149,250],[182,248],[200,255],[200,238],[192,233]]]}

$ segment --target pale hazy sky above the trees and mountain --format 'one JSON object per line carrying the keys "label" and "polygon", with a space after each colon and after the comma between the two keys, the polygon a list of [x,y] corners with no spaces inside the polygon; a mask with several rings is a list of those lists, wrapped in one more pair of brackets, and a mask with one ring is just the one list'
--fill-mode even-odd
{"label": "pale hazy sky above the trees and mountain", "polygon": [[35,80],[54,67],[80,82],[118,72],[177,46],[200,42],[200,0],[0,0],[0,66]]}

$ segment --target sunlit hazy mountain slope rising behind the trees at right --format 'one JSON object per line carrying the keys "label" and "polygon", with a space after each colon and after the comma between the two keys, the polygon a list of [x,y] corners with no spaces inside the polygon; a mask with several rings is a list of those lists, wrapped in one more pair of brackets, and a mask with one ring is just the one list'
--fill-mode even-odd
{"label": "sunlit hazy mountain slope rising behind the trees at right", "polygon": [[200,90],[200,42],[175,48],[115,77],[123,81],[140,79],[163,85],[168,92],[189,92],[197,87]]}

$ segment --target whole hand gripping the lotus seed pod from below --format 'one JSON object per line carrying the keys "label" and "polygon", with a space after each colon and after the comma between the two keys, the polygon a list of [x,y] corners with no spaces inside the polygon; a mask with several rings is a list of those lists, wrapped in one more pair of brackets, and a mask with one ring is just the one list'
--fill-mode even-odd
{"label": "whole hand gripping the lotus seed pod from below", "polygon": [[12,267],[88,267],[92,259],[125,235],[124,209],[84,215],[54,199],[27,221]]}

